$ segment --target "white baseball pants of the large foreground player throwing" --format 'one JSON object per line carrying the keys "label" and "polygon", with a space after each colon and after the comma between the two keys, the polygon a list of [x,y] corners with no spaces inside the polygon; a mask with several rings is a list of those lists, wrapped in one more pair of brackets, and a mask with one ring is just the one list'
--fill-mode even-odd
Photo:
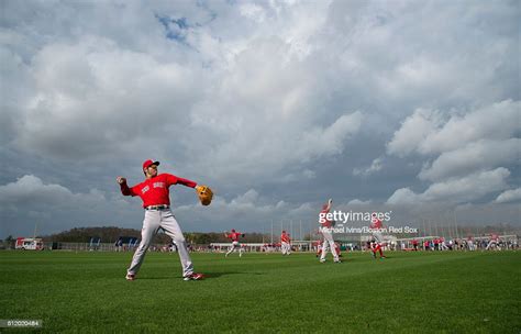
{"label": "white baseball pants of the large foreground player throwing", "polygon": [[190,259],[190,254],[188,253],[185,236],[170,209],[145,211],[145,220],[143,221],[143,229],[141,230],[141,243],[134,253],[128,272],[135,275],[140,271],[140,267],[145,259],[146,250],[151,246],[152,238],[159,229],[163,229],[177,246],[182,266],[182,277],[193,274],[193,265]]}

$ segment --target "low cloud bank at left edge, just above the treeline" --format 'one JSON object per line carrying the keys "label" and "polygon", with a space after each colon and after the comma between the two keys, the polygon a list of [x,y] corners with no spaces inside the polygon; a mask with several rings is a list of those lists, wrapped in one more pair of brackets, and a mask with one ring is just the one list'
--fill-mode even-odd
{"label": "low cloud bank at left edge, just above the treeline", "polygon": [[33,175],[0,186],[0,233],[5,234],[32,233],[35,224],[41,234],[78,226],[129,226],[129,210],[126,201],[103,191],[74,192]]}

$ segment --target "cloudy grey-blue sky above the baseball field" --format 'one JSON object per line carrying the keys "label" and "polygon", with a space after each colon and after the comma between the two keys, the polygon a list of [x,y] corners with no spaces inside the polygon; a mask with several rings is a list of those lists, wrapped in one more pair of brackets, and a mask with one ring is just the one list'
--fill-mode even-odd
{"label": "cloudy grey-blue sky above the baseball field", "polygon": [[[519,1],[0,1],[0,238],[140,229],[142,163],[185,231],[520,225]],[[298,223],[297,223],[298,222]],[[286,227],[287,229],[287,227]]]}

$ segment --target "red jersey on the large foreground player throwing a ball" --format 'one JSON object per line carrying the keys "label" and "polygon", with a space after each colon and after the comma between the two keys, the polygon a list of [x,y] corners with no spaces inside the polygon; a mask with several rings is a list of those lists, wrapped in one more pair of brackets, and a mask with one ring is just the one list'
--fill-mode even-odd
{"label": "red jersey on the large foreground player throwing a ball", "polygon": [[171,174],[159,174],[153,178],[129,188],[126,182],[120,185],[121,193],[124,196],[138,196],[143,200],[143,208],[148,205],[169,205],[173,185],[184,185],[196,188],[197,183]]}

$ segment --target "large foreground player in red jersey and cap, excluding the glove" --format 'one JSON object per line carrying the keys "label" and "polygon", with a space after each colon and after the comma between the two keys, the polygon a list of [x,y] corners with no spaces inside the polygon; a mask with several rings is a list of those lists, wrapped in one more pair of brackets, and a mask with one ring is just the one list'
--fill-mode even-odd
{"label": "large foreground player in red jersey and cap, excluding the glove", "polygon": [[171,174],[157,174],[157,166],[159,166],[159,162],[144,162],[142,170],[145,175],[145,180],[134,187],[129,187],[124,177],[119,176],[117,178],[121,192],[124,196],[138,196],[143,200],[143,209],[145,209],[145,220],[141,230],[141,243],[134,253],[125,278],[128,280],[135,279],[135,275],[145,258],[146,250],[151,246],[153,236],[162,229],[177,245],[184,279],[202,279],[202,274],[193,272],[193,265],[188,253],[185,236],[171,213],[169,198],[170,186],[182,185],[196,188],[197,183]]}

